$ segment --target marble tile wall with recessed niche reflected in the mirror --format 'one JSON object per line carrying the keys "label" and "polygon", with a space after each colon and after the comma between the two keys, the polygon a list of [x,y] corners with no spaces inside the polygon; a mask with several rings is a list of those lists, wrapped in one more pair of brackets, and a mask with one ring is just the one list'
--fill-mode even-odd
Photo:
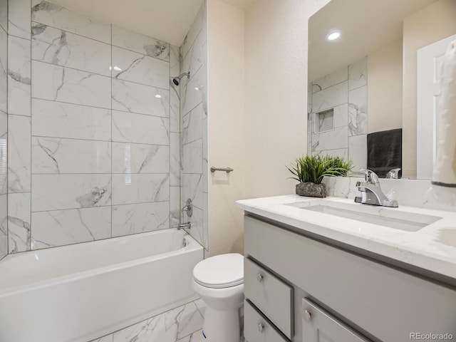
{"label": "marble tile wall with recessed niche reflected in the mirror", "polygon": [[[367,58],[323,76],[309,85],[307,152],[353,160],[353,171],[367,166]],[[322,112],[333,109],[333,116]],[[331,127],[325,122],[333,120]]]}

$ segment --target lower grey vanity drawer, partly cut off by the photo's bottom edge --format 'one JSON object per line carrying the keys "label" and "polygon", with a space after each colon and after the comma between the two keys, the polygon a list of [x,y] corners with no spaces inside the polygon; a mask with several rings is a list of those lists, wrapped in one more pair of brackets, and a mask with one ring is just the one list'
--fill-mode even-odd
{"label": "lower grey vanity drawer, partly cut off by the photo's bottom edge", "polygon": [[249,301],[244,301],[244,337],[246,342],[288,342]]}

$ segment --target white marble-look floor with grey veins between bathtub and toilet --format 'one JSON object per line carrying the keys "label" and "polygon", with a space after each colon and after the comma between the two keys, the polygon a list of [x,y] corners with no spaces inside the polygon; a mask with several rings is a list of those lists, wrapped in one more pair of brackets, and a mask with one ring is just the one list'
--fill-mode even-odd
{"label": "white marble-look floor with grey veins between bathtub and toilet", "polygon": [[202,342],[204,304],[192,301],[91,342]]}

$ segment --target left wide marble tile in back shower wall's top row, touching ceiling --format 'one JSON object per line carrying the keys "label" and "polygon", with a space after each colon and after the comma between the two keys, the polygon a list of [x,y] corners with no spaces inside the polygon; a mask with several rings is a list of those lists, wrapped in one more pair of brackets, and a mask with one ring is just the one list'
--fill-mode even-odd
{"label": "left wide marble tile in back shower wall's top row, touching ceiling", "polygon": [[53,26],[78,35],[110,44],[111,26],[96,19],[79,14],[71,9],[41,1],[33,4],[31,19],[40,24]]}

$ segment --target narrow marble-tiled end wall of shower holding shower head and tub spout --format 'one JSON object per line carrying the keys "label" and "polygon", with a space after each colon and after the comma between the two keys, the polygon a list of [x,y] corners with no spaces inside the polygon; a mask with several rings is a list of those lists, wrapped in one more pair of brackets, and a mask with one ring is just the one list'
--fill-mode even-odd
{"label": "narrow marble-tiled end wall of shower holding shower head and tub spout", "polygon": [[190,220],[192,237],[209,250],[207,194],[207,19],[206,3],[202,4],[185,41],[180,47],[182,78],[180,112],[181,201],[192,199]]}

